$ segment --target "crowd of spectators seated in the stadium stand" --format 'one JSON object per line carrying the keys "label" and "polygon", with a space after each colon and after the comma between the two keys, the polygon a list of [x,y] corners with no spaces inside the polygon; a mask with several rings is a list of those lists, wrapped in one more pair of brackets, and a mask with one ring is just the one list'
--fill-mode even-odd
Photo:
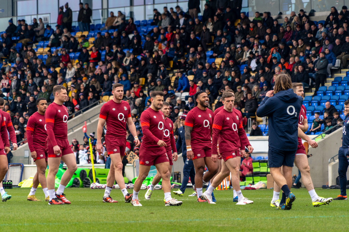
{"label": "crowd of spectators seated in the stadium stand", "polygon": [[[177,129],[181,112],[194,107],[196,91],[206,91],[209,108],[217,108],[222,106],[222,92],[232,89],[235,108],[248,118],[255,116],[258,102],[273,89],[274,75],[288,72],[292,82],[301,82],[304,88],[315,86],[316,95],[320,84],[331,77],[336,59],[341,60],[341,67],[347,66],[346,6],[340,11],[332,7],[325,23],[311,21],[301,9],[279,24],[268,12],[256,11],[250,20],[240,13],[241,2],[208,1],[200,9],[200,1],[189,0],[188,12],[179,6],[164,7],[162,13],[154,9],[153,27],[147,32],[132,17],[110,12],[103,27],[94,29],[95,38],[74,36],[68,3],[59,8],[55,30],[41,18],[32,24],[18,20],[17,25],[11,19],[1,35],[0,49],[0,96],[6,100],[5,110],[14,117],[14,126],[24,128],[25,120],[36,111],[38,97],[53,101],[54,85],[69,85],[65,105],[72,114],[112,95],[112,85],[121,83],[141,135],[139,116],[150,105],[151,91],[164,91],[164,100],[170,103],[169,117]],[[79,29],[92,31],[91,9],[88,4],[79,6]],[[19,39],[13,41],[14,36]],[[35,52],[38,41],[45,41],[49,48],[45,60]],[[22,44],[18,47],[14,42]],[[78,54],[74,62],[72,53]],[[22,133],[18,141],[24,137]],[[128,141],[133,150],[132,136]]]}

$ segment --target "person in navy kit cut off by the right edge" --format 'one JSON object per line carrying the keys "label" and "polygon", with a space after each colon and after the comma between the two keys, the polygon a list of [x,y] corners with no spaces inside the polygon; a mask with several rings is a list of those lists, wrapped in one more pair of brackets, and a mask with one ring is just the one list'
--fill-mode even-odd
{"label": "person in navy kit cut off by the right edge", "polygon": [[[349,100],[344,102],[344,112],[349,113]],[[333,200],[347,200],[347,170],[349,165],[347,155],[349,155],[349,118],[346,118],[343,122],[342,146],[338,151],[338,175],[341,194]]]}

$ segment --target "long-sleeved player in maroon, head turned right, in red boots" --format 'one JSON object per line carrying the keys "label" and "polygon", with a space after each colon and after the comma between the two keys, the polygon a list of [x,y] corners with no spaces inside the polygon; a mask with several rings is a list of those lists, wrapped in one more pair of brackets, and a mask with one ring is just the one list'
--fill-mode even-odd
{"label": "long-sleeved player in maroon, head turned right, in red boots", "polygon": [[[63,106],[67,99],[67,90],[62,85],[53,87],[54,101],[45,111],[47,139],[45,142],[49,173],[47,188],[50,195],[49,204],[70,204],[65,197],[64,189],[77,169],[76,158],[68,141],[68,109]],[[67,165],[57,191],[54,191],[54,180],[61,160]]]}

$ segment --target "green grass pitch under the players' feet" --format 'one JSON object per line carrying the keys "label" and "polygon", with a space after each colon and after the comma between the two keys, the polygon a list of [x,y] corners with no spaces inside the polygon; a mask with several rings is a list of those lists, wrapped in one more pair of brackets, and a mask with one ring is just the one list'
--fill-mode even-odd
{"label": "green grass pitch under the players' feet", "polygon": [[[349,201],[313,207],[305,188],[292,189],[296,200],[289,211],[270,207],[272,190],[243,190],[253,204],[236,206],[233,191],[215,191],[217,204],[196,202],[187,188],[179,207],[165,207],[163,191],[154,190],[150,201],[139,193],[143,207],[125,203],[120,190],[111,196],[119,203],[103,203],[104,190],[67,188],[70,205],[50,206],[27,201],[29,188],[7,190],[12,199],[0,202],[0,231],[346,231]],[[177,189],[173,189],[177,190]],[[171,192],[173,191],[171,190]],[[319,196],[336,197],[339,190],[316,189]],[[128,190],[132,192],[132,190]],[[38,188],[38,199],[44,193]],[[172,194],[172,197],[175,195]],[[345,229],[347,228],[347,229]]]}

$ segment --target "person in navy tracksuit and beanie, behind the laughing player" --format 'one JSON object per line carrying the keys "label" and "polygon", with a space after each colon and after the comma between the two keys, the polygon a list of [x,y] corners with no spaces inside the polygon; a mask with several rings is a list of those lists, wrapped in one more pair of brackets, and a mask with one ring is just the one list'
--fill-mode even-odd
{"label": "person in navy tracksuit and beanie, behind the laughing player", "polygon": [[[186,116],[187,116],[186,113],[182,114],[179,120],[185,120]],[[176,191],[176,192],[178,192],[179,194],[183,194],[185,191],[185,188],[187,187],[189,177],[190,177],[190,180],[192,181],[192,184],[193,185],[195,184],[195,169],[194,169],[193,161],[187,159],[187,147],[185,144],[184,126],[178,129],[178,140],[176,143],[177,150],[179,150],[180,147],[182,147],[182,157],[184,161],[183,181],[179,189],[179,191],[181,191],[182,193],[179,193],[179,191]]]}

